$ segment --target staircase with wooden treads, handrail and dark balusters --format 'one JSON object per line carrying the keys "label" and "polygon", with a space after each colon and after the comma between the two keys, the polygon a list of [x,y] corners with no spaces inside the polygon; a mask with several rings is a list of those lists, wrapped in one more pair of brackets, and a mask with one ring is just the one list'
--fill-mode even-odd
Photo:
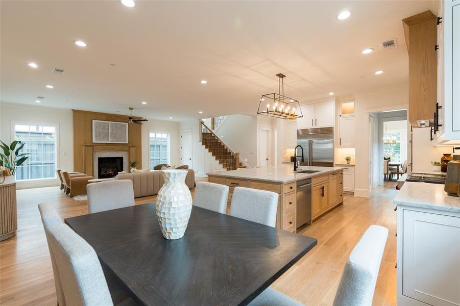
{"label": "staircase with wooden treads, handrail and dark balusters", "polygon": [[229,148],[203,121],[200,121],[200,132],[200,142],[219,161],[222,167],[227,170],[243,167],[239,161],[239,153]]}

